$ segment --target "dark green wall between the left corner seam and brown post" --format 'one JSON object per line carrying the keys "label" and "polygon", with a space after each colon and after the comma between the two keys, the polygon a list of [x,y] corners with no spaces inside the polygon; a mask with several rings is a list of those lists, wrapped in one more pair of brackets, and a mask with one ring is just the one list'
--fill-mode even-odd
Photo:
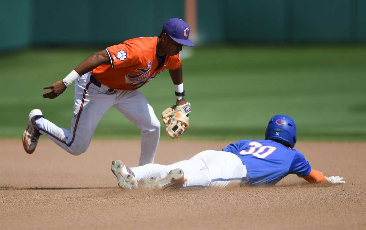
{"label": "dark green wall between the left corner seam and brown post", "polygon": [[57,7],[55,3],[36,0],[34,7],[38,12],[33,27],[36,44],[122,42],[132,37],[156,36],[165,20],[184,17],[183,0],[63,0]]}

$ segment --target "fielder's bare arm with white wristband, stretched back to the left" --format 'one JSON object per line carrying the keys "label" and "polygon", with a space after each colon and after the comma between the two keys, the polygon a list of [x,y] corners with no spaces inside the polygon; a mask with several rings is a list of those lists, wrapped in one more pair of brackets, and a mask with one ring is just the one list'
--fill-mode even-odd
{"label": "fielder's bare arm with white wristband, stretched back to the left", "polygon": [[67,86],[74,82],[78,77],[93,70],[101,64],[109,64],[109,56],[107,51],[102,50],[93,53],[89,58],[80,63],[75,70],[72,70],[63,80],[57,81],[50,86],[42,89],[50,89],[48,92],[42,94],[43,98],[53,99],[63,93]]}

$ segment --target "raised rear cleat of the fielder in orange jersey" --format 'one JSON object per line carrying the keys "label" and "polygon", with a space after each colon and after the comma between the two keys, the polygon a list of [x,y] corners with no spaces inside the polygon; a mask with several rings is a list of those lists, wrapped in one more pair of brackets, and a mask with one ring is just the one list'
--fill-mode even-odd
{"label": "raised rear cleat of the fielder in orange jersey", "polygon": [[30,111],[28,115],[28,126],[23,133],[23,148],[29,154],[34,152],[38,144],[38,139],[42,135],[36,126],[35,120],[37,118],[44,118],[42,111],[38,109]]}

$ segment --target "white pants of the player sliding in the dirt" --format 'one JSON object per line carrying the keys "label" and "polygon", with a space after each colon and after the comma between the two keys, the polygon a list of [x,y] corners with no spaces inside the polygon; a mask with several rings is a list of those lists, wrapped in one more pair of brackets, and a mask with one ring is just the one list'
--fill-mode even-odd
{"label": "white pants of the player sliding in the dirt", "polygon": [[187,179],[183,187],[223,188],[238,186],[246,177],[247,170],[238,156],[230,152],[206,150],[189,160],[171,165],[146,164],[130,168],[138,181],[150,177],[165,177],[175,168],[181,168]]}

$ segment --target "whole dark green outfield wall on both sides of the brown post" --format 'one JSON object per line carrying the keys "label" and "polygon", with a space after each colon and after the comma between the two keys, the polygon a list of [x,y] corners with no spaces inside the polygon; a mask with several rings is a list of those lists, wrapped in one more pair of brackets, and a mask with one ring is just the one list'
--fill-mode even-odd
{"label": "whole dark green outfield wall on both sides of the brown post", "polygon": [[[364,42],[365,0],[197,0],[198,38],[213,42]],[[104,44],[157,35],[184,0],[4,0],[0,49]]]}

